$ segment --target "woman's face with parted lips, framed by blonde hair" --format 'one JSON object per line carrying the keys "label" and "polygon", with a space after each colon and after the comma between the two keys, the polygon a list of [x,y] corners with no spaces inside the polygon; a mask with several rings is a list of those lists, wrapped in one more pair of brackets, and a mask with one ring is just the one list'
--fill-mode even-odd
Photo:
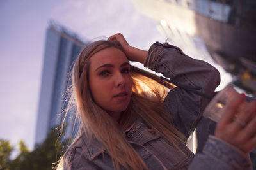
{"label": "woman's face with parted lips, framed by blonde hair", "polygon": [[132,94],[130,64],[118,48],[101,50],[90,59],[89,85],[95,103],[118,118]]}

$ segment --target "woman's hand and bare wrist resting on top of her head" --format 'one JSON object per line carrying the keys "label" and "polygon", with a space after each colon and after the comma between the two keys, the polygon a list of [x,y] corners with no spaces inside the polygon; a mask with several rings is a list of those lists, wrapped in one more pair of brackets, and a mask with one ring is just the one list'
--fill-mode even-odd
{"label": "woman's hand and bare wrist resting on top of her head", "polygon": [[109,41],[119,41],[119,43],[122,45],[124,49],[124,53],[127,56],[127,58],[131,61],[136,61],[140,63],[144,63],[145,58],[147,57],[147,51],[140,50],[138,48],[132,47],[127,43],[126,39],[124,38],[123,34],[118,33],[113,36],[110,36]]}

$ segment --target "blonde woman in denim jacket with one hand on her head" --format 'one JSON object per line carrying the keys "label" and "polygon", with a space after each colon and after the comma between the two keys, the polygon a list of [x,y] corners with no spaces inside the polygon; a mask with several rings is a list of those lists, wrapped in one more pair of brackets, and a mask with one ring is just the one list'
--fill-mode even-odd
{"label": "blonde woman in denim jacket with one hand on her head", "polygon": [[[154,43],[129,46],[122,34],[96,41],[79,54],[72,88],[81,129],[63,155],[64,169],[250,169],[256,146],[256,104],[238,108],[239,95],[223,110],[215,136],[193,155],[186,140],[209,102],[129,64],[141,62],[171,80],[209,96],[220,74],[179,48]],[[171,89],[166,94],[166,88]],[[240,107],[241,108],[241,107]],[[243,122],[244,127],[237,120]]]}

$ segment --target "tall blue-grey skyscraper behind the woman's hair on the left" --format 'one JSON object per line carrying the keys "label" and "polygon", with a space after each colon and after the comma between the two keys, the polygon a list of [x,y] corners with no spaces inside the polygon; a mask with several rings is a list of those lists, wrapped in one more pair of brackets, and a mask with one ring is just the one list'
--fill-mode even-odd
{"label": "tall blue-grey skyscraper behind the woman's hair on the left", "polygon": [[[67,107],[68,74],[84,45],[76,34],[50,22],[45,41],[35,144],[42,143],[50,129],[63,120],[59,114]],[[72,127],[72,123],[68,125]],[[67,133],[70,134],[70,130]]]}

